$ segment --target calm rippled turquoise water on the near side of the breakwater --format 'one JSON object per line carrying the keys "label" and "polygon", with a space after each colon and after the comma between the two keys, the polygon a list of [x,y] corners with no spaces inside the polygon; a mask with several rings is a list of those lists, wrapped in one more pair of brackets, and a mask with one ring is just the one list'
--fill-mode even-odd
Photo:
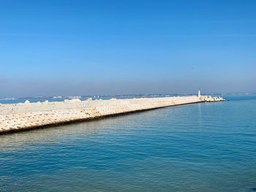
{"label": "calm rippled turquoise water on the near side of the breakwater", "polygon": [[256,191],[256,96],[0,136],[0,191]]}

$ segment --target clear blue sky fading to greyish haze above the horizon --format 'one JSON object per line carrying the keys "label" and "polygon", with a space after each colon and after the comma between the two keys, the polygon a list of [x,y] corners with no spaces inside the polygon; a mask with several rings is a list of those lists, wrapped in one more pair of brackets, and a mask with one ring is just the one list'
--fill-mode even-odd
{"label": "clear blue sky fading to greyish haze above the horizon", "polygon": [[254,0],[0,0],[0,97],[255,85]]}

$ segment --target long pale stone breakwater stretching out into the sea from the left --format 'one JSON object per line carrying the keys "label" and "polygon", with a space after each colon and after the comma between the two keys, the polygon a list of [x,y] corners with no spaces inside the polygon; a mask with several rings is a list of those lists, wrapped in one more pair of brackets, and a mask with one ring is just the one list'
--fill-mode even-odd
{"label": "long pale stone breakwater stretching out into the sea from the left", "polygon": [[72,99],[37,103],[26,101],[19,104],[0,104],[0,134],[206,101],[224,101],[224,99],[211,96],[177,96],[94,101]]}

